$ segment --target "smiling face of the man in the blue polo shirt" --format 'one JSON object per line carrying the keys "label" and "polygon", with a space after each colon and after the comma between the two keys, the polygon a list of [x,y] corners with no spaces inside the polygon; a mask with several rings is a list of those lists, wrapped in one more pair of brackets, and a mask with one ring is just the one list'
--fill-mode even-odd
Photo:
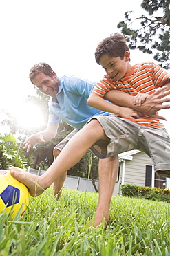
{"label": "smiling face of the man in the blue polo shirt", "polygon": [[53,77],[50,77],[41,72],[32,79],[32,83],[41,93],[50,97],[56,97],[56,93],[59,90],[59,80],[56,77],[56,73],[53,74]]}

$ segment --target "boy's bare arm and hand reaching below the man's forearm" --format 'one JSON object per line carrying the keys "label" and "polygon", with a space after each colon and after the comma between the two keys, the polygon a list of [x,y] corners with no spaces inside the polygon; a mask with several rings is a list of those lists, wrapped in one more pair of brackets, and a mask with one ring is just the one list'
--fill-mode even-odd
{"label": "boy's bare arm and hand reaching below the man's forearm", "polygon": [[110,102],[107,102],[102,97],[96,95],[96,93],[93,92],[89,95],[87,104],[91,107],[95,107],[96,109],[115,113],[122,118],[134,119],[142,116],[142,113],[135,111],[129,107],[120,107],[116,104],[111,104]]}

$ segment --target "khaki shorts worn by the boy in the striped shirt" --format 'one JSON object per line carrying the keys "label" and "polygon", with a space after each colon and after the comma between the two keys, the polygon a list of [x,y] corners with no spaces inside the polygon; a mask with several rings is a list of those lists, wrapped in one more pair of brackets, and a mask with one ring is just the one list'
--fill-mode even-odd
{"label": "khaki shorts worn by the boy in the striped shirt", "polygon": [[114,115],[95,116],[94,118],[100,122],[106,136],[110,138],[110,143],[98,140],[91,147],[92,152],[98,158],[107,158],[138,149],[151,157],[155,170],[160,176],[170,177],[170,136],[166,129],[138,125]]}

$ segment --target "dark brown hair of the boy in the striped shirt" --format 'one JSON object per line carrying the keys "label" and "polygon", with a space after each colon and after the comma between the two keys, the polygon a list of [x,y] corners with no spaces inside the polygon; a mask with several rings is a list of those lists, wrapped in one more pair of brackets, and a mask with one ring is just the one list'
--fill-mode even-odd
{"label": "dark brown hair of the boy in the striped shirt", "polygon": [[125,51],[129,51],[126,43],[125,37],[118,33],[106,37],[96,48],[95,59],[97,64],[100,65],[100,57],[103,54],[108,54],[110,57],[120,57],[123,60]]}

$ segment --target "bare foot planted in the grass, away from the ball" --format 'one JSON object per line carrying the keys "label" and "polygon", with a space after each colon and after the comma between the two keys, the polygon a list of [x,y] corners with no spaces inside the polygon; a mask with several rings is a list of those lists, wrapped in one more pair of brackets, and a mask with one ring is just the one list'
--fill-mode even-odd
{"label": "bare foot planted in the grass, away from the ball", "polygon": [[89,221],[90,228],[98,228],[101,224],[103,224],[103,228],[107,228],[107,223],[109,222],[109,214],[103,214],[103,212],[99,212],[96,210],[94,217]]}

